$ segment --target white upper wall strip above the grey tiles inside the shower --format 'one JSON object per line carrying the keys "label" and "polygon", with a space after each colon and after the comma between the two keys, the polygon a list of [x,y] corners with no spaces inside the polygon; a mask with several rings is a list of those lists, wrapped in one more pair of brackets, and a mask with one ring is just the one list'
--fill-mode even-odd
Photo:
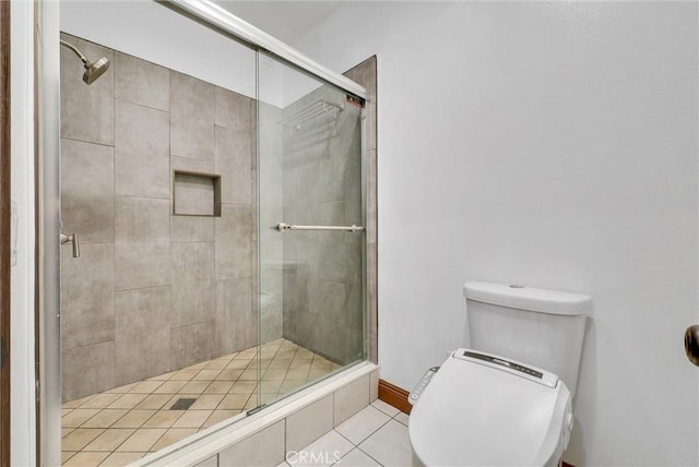
{"label": "white upper wall strip above the grey tiles inside the shower", "polygon": [[[285,107],[318,87],[266,56],[152,0],[62,0],[62,32]],[[87,57],[96,60],[98,57]]]}

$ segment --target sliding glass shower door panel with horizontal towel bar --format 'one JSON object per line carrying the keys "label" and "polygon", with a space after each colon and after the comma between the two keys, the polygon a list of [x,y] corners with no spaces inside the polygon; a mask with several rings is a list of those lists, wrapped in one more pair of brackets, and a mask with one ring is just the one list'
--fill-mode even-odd
{"label": "sliding glass shower door panel with horizontal towel bar", "polygon": [[364,360],[362,99],[258,52],[261,403]]}

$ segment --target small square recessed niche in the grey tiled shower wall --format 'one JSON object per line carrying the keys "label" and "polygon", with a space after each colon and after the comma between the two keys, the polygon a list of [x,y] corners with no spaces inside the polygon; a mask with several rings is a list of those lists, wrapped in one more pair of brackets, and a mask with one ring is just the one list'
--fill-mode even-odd
{"label": "small square recessed niche in the grey tiled shower wall", "polygon": [[173,214],[221,217],[221,176],[175,170]]}

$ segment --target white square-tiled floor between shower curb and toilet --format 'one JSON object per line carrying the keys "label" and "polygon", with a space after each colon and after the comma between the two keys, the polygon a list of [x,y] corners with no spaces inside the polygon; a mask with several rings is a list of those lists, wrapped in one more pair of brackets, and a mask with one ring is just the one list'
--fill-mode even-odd
{"label": "white square-tiled floor between shower curb and toilet", "polygon": [[376,400],[277,467],[410,467],[412,459],[407,416]]}

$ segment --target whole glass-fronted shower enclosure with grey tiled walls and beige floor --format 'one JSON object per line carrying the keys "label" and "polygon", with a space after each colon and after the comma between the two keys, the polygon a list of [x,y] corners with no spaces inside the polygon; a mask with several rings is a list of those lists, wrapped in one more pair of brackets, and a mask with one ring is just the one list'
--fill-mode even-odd
{"label": "whole glass-fronted shower enclosure with grey tiled walls and beige floor", "polygon": [[[171,5],[61,8],[62,462],[135,460],[365,360],[363,88]],[[108,69],[83,82],[75,49]]]}

